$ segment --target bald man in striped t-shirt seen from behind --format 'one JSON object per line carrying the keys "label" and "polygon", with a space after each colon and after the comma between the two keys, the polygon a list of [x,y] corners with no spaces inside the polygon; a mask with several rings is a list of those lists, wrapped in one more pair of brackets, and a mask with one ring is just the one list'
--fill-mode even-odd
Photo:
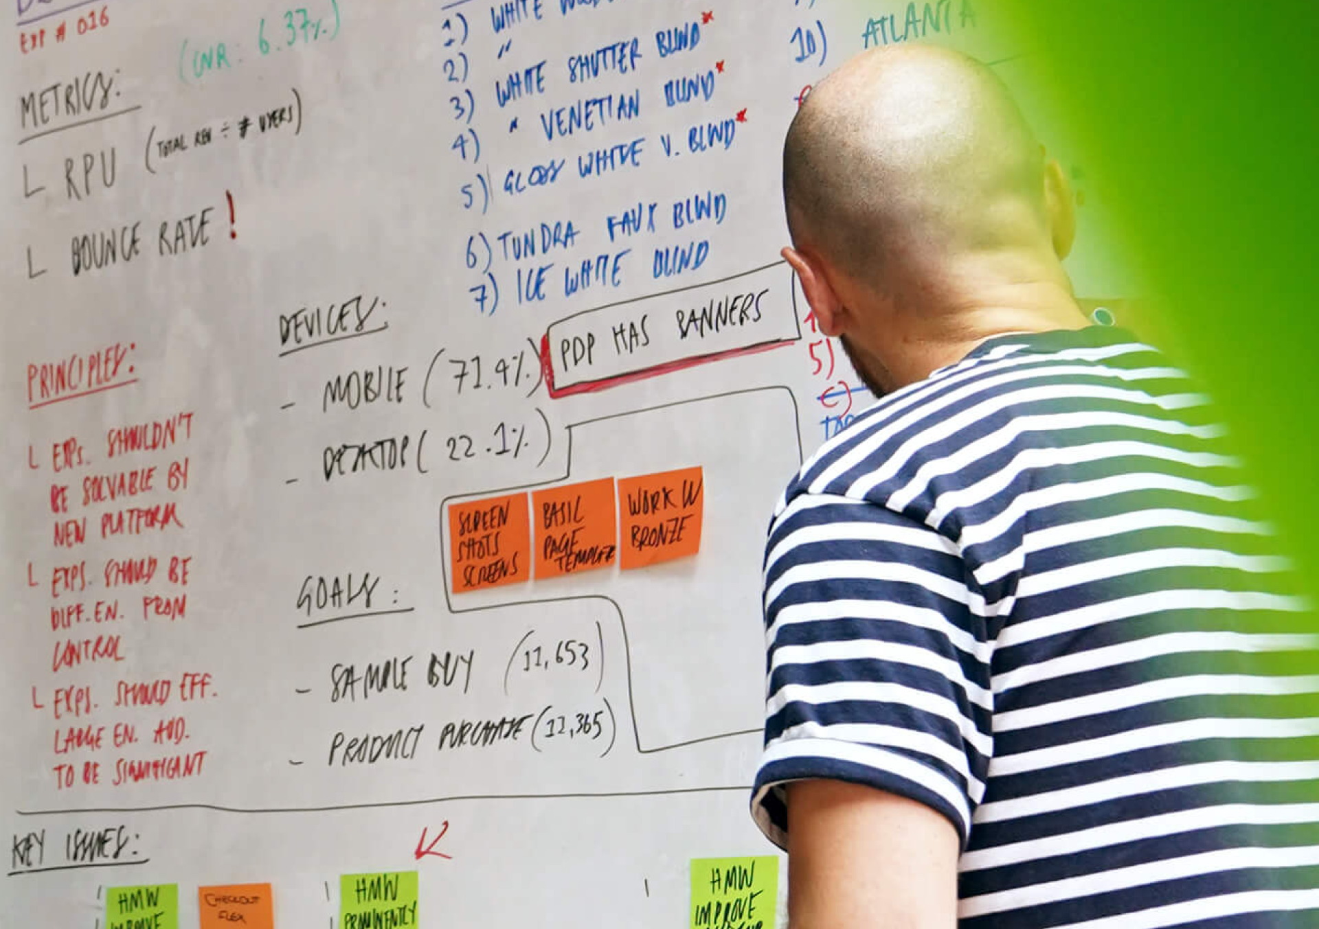
{"label": "bald man in striped t-shirt seen from behind", "polygon": [[1002,84],[852,59],[783,195],[881,397],[766,544],[753,813],[791,929],[1319,926],[1303,601],[1206,398],[1087,325],[1067,181]]}

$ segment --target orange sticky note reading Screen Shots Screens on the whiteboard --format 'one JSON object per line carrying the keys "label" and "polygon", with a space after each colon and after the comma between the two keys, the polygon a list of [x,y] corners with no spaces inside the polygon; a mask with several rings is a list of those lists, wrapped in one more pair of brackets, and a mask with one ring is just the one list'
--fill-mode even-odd
{"label": "orange sticky note reading Screen Shots Screens on the whiteboard", "polygon": [[528,580],[532,576],[532,524],[526,515],[526,494],[451,503],[448,564],[454,593]]}

